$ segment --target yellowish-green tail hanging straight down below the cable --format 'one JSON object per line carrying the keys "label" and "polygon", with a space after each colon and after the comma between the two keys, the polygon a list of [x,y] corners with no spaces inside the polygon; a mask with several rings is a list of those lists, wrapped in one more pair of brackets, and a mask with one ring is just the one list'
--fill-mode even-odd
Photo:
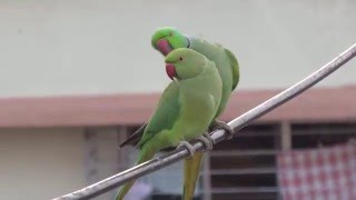
{"label": "yellowish-green tail hanging straight down below the cable", "polygon": [[185,161],[185,177],[182,188],[184,200],[191,200],[194,197],[202,156],[202,152],[196,152],[192,158],[186,159]]}

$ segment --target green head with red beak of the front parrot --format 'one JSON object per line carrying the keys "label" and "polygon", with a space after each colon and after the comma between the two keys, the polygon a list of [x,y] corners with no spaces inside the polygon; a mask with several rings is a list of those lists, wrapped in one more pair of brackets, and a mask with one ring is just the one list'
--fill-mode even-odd
{"label": "green head with red beak of the front parrot", "polygon": [[166,72],[171,80],[185,80],[199,76],[207,58],[195,50],[179,48],[167,54],[165,61]]}

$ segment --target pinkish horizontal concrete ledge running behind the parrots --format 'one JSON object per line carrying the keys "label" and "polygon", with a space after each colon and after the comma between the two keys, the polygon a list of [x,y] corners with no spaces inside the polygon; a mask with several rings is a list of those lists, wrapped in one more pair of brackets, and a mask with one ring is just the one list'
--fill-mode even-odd
{"label": "pinkish horizontal concrete ledge running behind the parrots", "polygon": [[[230,120],[280,90],[238,91],[221,119]],[[0,99],[0,128],[140,124],[159,93]],[[259,121],[356,121],[356,87],[312,89]]]}

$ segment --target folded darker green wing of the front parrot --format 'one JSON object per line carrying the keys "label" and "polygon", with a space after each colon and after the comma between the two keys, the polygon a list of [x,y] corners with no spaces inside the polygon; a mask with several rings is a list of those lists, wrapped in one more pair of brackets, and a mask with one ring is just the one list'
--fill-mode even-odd
{"label": "folded darker green wing of the front parrot", "polygon": [[140,148],[156,133],[171,129],[178,119],[180,107],[179,88],[175,82],[171,82],[161,94],[155,114],[148,122],[137,146]]}

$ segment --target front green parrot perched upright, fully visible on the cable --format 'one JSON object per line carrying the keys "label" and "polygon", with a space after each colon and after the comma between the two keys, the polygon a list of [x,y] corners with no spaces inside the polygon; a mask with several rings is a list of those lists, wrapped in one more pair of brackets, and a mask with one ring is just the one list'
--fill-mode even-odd
{"label": "front green parrot perched upright, fully visible on the cable", "polygon": [[[137,164],[167,147],[185,146],[192,154],[187,141],[197,138],[206,141],[201,134],[220,104],[222,82],[214,62],[187,48],[172,50],[165,61],[166,72],[172,81],[161,94],[137,143],[140,150]],[[123,199],[134,182],[126,183],[116,199]]]}

